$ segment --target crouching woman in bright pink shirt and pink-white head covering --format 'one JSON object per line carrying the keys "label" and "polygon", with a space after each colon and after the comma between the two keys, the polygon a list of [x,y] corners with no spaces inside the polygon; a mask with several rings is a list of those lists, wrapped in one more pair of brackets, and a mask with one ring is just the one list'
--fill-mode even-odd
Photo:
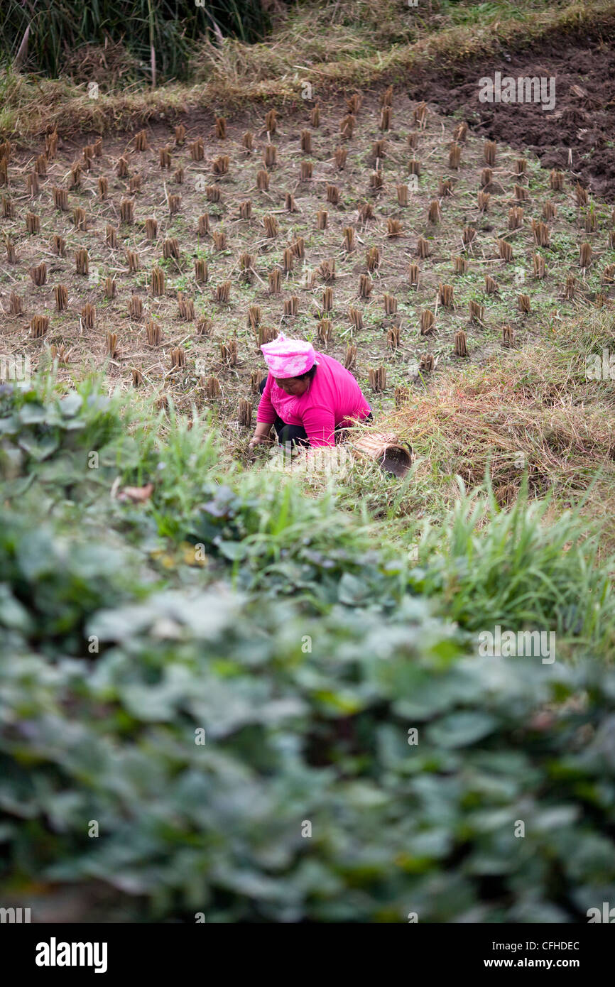
{"label": "crouching woman in bright pink shirt and pink-white head covering", "polygon": [[280,333],[261,348],[269,375],[261,383],[251,447],[268,441],[271,425],[282,445],[335,445],[337,430],[372,417],[352,374],[311,342]]}

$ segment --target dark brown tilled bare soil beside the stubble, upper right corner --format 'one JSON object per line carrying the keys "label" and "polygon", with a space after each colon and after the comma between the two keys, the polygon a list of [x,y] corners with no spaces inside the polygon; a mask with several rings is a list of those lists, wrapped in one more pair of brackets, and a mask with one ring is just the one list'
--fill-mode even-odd
{"label": "dark brown tilled bare soil beside the stubble, upper right corner", "polygon": [[[479,79],[554,77],[552,112],[536,104],[479,102]],[[615,48],[603,40],[548,39],[538,50],[481,59],[424,74],[409,88],[443,114],[465,117],[477,133],[533,151],[545,168],[561,168],[596,195],[615,201]],[[571,156],[572,152],[572,156]],[[572,157],[572,164],[571,164]]]}

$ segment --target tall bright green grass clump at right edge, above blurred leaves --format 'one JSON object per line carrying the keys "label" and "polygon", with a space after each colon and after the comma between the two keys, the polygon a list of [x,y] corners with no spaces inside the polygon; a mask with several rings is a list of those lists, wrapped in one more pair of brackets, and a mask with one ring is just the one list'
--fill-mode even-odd
{"label": "tall bright green grass clump at right edge, above blurred leaves", "polygon": [[501,509],[489,483],[487,495],[460,488],[448,523],[423,532],[415,588],[437,595],[438,609],[469,632],[554,631],[579,652],[611,654],[613,560],[601,558],[582,504],[550,517],[549,497],[530,502],[523,492]]}

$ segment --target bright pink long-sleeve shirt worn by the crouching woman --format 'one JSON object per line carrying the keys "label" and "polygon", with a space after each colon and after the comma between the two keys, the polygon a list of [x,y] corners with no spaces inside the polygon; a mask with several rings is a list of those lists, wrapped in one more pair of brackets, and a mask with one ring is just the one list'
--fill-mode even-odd
{"label": "bright pink long-sleeve shirt worn by the crouching woman", "polygon": [[339,360],[325,353],[316,353],[316,359],[316,373],[300,397],[286,394],[269,374],[257,421],[272,424],[278,415],[287,425],[303,425],[310,445],[335,445],[336,425],[344,427],[366,418],[371,408]]}

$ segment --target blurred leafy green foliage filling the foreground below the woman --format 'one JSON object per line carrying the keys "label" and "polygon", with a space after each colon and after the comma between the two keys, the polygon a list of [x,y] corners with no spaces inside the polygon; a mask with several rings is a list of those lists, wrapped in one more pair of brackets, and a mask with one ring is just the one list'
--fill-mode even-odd
{"label": "blurred leafy green foliage filling the foreground below the woman", "polygon": [[[574,922],[612,901],[612,667],[585,644],[477,657],[450,595],[465,535],[408,569],[332,499],[224,464],[202,423],[127,415],[89,384],[0,391],[3,903]],[[155,493],[120,503],[116,477]]]}

